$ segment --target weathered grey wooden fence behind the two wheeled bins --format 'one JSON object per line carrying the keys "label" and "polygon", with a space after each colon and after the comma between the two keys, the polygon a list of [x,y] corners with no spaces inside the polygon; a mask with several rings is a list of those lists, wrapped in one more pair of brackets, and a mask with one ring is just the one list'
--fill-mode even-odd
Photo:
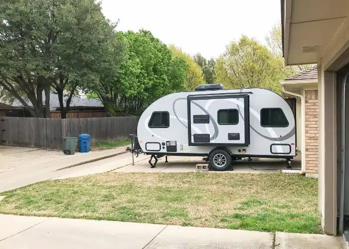
{"label": "weathered grey wooden fence behind the two wheeled bins", "polygon": [[64,120],[0,117],[0,120],[3,120],[0,144],[60,149],[62,136],[88,133],[91,142],[126,139],[128,134],[137,132],[139,117]]}

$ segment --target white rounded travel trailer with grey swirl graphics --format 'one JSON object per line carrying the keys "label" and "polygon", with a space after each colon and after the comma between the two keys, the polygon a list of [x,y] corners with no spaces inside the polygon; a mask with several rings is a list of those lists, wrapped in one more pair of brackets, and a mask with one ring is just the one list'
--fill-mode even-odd
{"label": "white rounded travel trailer with grey swirl graphics", "polygon": [[260,88],[224,90],[211,84],[167,95],[144,111],[137,135],[135,148],[152,155],[155,164],[164,155],[192,155],[207,156],[214,170],[226,170],[243,157],[285,158],[291,167],[296,155],[290,106]]}

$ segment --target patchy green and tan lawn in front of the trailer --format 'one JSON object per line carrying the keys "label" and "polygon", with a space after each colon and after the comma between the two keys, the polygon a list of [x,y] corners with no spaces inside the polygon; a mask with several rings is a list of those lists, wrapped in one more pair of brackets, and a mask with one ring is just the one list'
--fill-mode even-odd
{"label": "patchy green and tan lawn in front of the trailer", "polygon": [[0,195],[4,214],[322,233],[318,181],[299,174],[108,172]]}

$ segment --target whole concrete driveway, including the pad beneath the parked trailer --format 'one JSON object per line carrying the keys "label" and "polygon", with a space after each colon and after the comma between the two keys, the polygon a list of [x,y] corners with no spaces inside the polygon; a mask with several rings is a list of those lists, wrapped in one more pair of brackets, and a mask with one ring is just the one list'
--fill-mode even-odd
{"label": "whole concrete driveway, including the pad beneath the parked trailer", "polygon": [[[65,155],[62,151],[0,146],[0,193],[39,181],[78,177],[110,170],[195,172],[196,164],[203,163],[202,157],[169,156],[169,162],[166,163],[165,157],[162,157],[156,168],[150,168],[149,156],[142,154],[135,157],[135,165],[131,165],[131,154],[120,154],[124,151],[125,147],[120,147]],[[293,161],[292,167],[301,168],[300,155]],[[231,170],[208,171],[208,173],[275,173],[285,168],[286,162],[281,159],[237,160],[233,162]]]}

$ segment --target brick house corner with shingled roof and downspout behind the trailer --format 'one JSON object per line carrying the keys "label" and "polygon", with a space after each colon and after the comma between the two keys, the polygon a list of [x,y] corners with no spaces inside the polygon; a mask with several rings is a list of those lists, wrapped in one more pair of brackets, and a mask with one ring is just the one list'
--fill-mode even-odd
{"label": "brick house corner with shingled roof and downspout behind the trailer", "polygon": [[312,67],[280,82],[284,97],[296,97],[297,150],[307,176],[319,173],[318,71]]}

